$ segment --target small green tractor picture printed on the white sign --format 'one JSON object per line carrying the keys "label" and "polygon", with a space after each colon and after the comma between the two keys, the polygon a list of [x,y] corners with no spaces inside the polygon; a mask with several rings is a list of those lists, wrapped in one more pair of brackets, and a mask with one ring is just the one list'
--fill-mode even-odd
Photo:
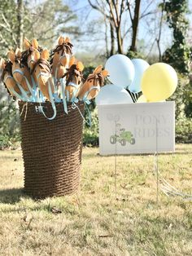
{"label": "small green tractor picture printed on the white sign", "polygon": [[129,130],[125,130],[121,128],[120,123],[116,124],[116,135],[111,135],[110,143],[115,144],[119,142],[121,146],[125,146],[126,143],[134,144],[135,139],[133,138],[133,134]]}

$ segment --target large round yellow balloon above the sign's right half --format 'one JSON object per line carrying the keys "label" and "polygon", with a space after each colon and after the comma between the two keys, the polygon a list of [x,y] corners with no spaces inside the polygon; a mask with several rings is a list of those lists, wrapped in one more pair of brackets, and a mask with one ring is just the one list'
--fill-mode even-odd
{"label": "large round yellow balloon above the sign's right half", "polygon": [[142,76],[142,93],[148,102],[170,97],[177,87],[177,73],[165,63],[152,64]]}

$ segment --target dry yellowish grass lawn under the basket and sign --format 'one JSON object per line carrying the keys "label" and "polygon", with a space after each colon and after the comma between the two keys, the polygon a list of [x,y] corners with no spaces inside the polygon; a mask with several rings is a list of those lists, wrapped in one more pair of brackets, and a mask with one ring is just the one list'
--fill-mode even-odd
{"label": "dry yellowish grass lawn under the basket and sign", "polygon": [[[191,201],[159,194],[154,157],[100,157],[84,148],[81,190],[33,201],[20,150],[0,152],[0,255],[191,255]],[[164,178],[192,193],[192,144],[159,155]],[[61,210],[54,214],[51,208]]]}

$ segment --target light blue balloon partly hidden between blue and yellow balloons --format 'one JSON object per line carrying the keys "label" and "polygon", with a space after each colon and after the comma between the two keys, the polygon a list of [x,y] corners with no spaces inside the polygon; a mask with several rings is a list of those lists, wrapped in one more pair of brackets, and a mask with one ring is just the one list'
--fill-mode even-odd
{"label": "light blue balloon partly hidden between blue and yellow balloons", "polygon": [[142,59],[133,59],[131,61],[135,68],[135,75],[133,82],[129,86],[129,90],[132,92],[139,92],[142,90],[142,74],[144,71],[146,71],[146,68],[149,68],[150,65]]}

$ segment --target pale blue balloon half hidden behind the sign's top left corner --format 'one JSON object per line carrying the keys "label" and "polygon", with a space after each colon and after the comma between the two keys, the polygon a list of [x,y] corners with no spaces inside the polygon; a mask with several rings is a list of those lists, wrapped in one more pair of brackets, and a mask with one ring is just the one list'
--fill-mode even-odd
{"label": "pale blue balloon half hidden behind the sign's top left corner", "polygon": [[116,85],[103,86],[95,98],[97,105],[131,104],[133,100],[127,90]]}

